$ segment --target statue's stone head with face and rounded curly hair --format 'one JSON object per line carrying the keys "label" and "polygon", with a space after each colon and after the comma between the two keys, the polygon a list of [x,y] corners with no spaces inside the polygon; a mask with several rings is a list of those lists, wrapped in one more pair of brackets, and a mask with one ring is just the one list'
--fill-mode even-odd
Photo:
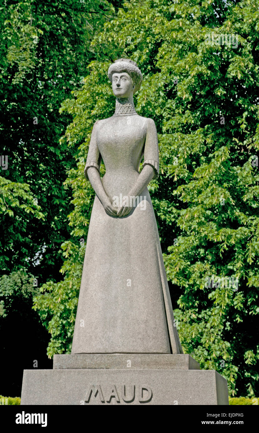
{"label": "statue's stone head with face and rounded curly hair", "polygon": [[135,61],[120,58],[110,65],[108,77],[112,83],[113,93],[118,98],[132,97],[139,90],[142,74]]}

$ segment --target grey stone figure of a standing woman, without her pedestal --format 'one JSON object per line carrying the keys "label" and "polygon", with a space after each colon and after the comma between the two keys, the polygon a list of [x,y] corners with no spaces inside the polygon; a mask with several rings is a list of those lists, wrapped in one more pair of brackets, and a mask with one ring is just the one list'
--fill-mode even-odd
{"label": "grey stone figure of a standing woman, without her pedestal", "polygon": [[94,123],[84,169],[96,197],[72,353],[182,353],[147,188],[159,174],[157,132],[133,103],[142,74],[121,58],[108,77],[116,108]]}

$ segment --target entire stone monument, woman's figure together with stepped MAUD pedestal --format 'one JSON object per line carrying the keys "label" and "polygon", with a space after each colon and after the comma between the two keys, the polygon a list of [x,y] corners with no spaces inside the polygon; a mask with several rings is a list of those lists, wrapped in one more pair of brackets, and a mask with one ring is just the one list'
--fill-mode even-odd
{"label": "entire stone monument, woman's figure together with stepped MAUD pedestal", "polygon": [[119,59],[108,77],[116,109],[94,124],[84,170],[96,197],[72,353],[54,355],[53,370],[24,370],[21,404],[226,405],[226,379],[182,353],[175,327],[147,189],[159,174],[157,133],[133,103],[142,74]]}

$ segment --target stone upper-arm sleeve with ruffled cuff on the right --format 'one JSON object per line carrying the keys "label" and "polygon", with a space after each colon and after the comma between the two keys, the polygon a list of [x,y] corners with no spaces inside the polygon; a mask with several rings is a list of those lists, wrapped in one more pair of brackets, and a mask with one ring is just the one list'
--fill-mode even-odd
{"label": "stone upper-arm sleeve with ruffled cuff on the right", "polygon": [[158,138],[155,127],[155,122],[152,119],[148,120],[148,126],[146,131],[146,142],[144,148],[144,162],[145,165],[151,165],[155,170],[154,178],[159,176],[159,149],[158,149]]}

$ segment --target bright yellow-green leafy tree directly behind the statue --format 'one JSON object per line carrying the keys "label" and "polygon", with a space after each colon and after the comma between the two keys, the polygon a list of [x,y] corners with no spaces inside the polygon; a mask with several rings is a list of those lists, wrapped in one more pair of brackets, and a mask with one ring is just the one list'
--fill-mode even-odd
{"label": "bright yellow-green leafy tree directly behind the statue", "polygon": [[[45,287],[46,294],[36,299],[35,307],[45,312],[45,326],[52,332],[49,356],[71,345],[73,326],[64,330],[63,314],[74,318],[75,304],[69,300],[71,288],[78,293],[81,270],[76,238],[86,239],[94,198],[84,179],[84,162],[95,120],[114,110],[107,68],[115,58],[129,57],[144,74],[136,110],[152,117],[159,133],[161,175],[149,189],[174,308],[178,303],[182,346],[201,368],[216,369],[227,378],[232,396],[255,395],[258,10],[258,0],[230,1],[224,9],[217,1],[126,2],[94,36],[96,60],[89,63],[82,88],[75,89],[60,110],[73,117],[61,146],[68,142],[77,161],[65,181],[73,195],[68,218],[74,241],[62,247],[67,258],[64,282]],[[205,44],[205,35],[212,31],[237,34],[238,46]],[[238,290],[206,287],[206,277],[212,275],[238,278]],[[53,304],[59,291],[65,305],[62,320],[57,319],[61,307],[56,313]]]}

